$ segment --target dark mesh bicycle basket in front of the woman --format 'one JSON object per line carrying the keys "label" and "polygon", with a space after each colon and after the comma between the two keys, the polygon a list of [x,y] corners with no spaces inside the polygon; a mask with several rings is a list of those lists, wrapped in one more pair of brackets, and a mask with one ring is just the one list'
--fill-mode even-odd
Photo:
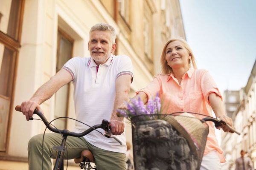
{"label": "dark mesh bicycle basket in front of the woman", "polygon": [[189,116],[131,118],[135,170],[199,170],[208,125]]}

